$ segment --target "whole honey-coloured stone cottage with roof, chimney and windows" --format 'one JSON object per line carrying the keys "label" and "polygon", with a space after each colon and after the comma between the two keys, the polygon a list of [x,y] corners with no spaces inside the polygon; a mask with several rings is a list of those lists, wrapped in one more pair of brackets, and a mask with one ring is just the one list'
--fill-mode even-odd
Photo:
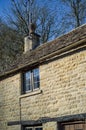
{"label": "whole honey-coloured stone cottage with roof, chimney and windows", "polygon": [[86,130],[86,25],[38,37],[0,72],[0,130]]}

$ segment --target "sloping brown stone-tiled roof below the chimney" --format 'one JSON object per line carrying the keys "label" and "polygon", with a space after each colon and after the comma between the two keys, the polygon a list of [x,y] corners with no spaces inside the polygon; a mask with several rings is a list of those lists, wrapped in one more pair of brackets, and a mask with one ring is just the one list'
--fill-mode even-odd
{"label": "sloping brown stone-tiled roof below the chimney", "polygon": [[73,46],[75,43],[78,45],[83,41],[86,41],[86,24],[53,41],[40,45],[35,50],[28,51],[27,53],[18,56],[10,66],[7,66],[7,68],[0,72],[0,77],[27,66],[40,63],[41,60],[45,61],[46,58],[52,57],[52,54],[57,55],[56,52],[60,52],[60,50],[68,46]]}

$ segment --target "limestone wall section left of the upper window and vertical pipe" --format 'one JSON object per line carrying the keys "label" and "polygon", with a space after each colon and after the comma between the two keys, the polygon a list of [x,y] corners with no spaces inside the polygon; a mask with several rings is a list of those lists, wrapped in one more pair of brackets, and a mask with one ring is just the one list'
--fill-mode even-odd
{"label": "limestone wall section left of the upper window and vertical pipe", "polygon": [[16,130],[7,122],[20,119],[19,111],[20,74],[0,81],[0,130]]}

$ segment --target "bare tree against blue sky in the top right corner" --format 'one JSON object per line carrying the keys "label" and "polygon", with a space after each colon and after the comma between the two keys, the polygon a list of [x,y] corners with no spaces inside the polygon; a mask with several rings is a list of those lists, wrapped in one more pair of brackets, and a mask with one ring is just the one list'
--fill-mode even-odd
{"label": "bare tree against blue sky in the top right corner", "polygon": [[65,21],[73,27],[86,22],[86,0],[61,0],[66,5]]}

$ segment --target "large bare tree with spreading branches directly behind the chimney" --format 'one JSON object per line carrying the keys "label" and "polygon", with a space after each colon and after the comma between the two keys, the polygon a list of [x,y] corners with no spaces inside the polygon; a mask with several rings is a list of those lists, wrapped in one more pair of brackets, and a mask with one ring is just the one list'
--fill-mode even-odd
{"label": "large bare tree with spreading branches directly behind the chimney", "polygon": [[[24,37],[29,33],[29,0],[11,0],[11,3],[12,13],[9,15],[9,24]],[[57,36],[60,29],[56,25],[56,11],[52,12],[48,6],[40,5],[37,0],[31,0],[31,13],[32,20],[37,25],[36,32],[41,35],[42,43]]]}

